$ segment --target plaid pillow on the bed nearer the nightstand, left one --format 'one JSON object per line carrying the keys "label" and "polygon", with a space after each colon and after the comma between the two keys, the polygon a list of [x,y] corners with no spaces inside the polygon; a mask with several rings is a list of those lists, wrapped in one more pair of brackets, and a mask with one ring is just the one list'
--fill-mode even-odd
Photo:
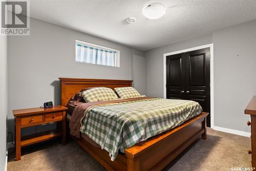
{"label": "plaid pillow on the bed nearer the nightstand, left one", "polygon": [[86,102],[95,102],[95,101],[108,101],[108,100],[115,100],[119,99],[115,92],[112,89],[99,87],[99,88],[92,88],[81,92],[82,97]]}

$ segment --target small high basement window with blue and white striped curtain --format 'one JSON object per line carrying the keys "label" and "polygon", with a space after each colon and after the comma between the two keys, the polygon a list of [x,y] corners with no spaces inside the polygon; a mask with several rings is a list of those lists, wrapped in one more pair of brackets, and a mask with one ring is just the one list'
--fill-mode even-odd
{"label": "small high basement window with blue and white striped curtain", "polygon": [[119,50],[76,40],[76,62],[119,67]]}

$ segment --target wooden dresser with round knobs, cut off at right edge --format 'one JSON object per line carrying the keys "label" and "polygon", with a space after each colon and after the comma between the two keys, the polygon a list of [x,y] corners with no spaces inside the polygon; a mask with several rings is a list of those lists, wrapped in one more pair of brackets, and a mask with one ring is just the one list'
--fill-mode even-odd
{"label": "wooden dresser with round knobs, cut off at right edge", "polygon": [[247,125],[251,125],[251,150],[248,149],[248,153],[251,154],[252,167],[256,168],[256,96],[252,97],[244,113],[251,115],[251,121],[247,121]]}

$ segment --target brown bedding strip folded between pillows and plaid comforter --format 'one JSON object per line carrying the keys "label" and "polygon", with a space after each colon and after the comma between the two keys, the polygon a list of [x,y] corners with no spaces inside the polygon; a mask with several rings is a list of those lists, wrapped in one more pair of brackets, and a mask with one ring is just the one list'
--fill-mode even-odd
{"label": "brown bedding strip folded between pillows and plaid comforter", "polygon": [[88,102],[77,105],[74,109],[74,112],[71,116],[71,120],[69,122],[70,134],[80,138],[80,127],[81,127],[81,119],[84,116],[84,112],[92,106],[102,105],[102,104],[110,104],[110,103],[120,103],[126,101],[135,101],[135,100],[143,100],[143,99],[152,99],[152,97],[138,97],[132,99],[118,99],[118,100],[109,100],[109,101],[97,101],[97,102]]}

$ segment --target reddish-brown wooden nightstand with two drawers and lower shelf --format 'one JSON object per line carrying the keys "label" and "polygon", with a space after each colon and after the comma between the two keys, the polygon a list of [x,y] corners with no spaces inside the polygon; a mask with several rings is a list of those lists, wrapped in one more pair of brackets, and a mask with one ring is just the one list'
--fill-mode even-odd
{"label": "reddish-brown wooden nightstand with two drawers and lower shelf", "polygon": [[[61,105],[55,105],[53,108],[48,109],[30,108],[12,111],[13,116],[15,117],[16,161],[20,160],[20,148],[23,146],[60,136],[62,136],[62,144],[66,144],[66,110],[68,110],[68,108]],[[56,130],[44,133],[25,137],[21,137],[20,135],[20,130],[23,127],[58,121],[62,122],[62,129],[57,127]]]}

